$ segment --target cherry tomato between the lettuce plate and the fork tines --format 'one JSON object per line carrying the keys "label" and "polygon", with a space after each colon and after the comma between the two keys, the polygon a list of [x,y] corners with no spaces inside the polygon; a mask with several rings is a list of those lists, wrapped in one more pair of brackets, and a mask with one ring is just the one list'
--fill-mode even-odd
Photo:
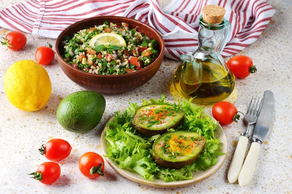
{"label": "cherry tomato between the lettuce plate and the fork tines", "polygon": [[229,125],[233,121],[237,122],[239,115],[237,108],[230,102],[217,102],[212,108],[213,117],[219,121],[221,125]]}

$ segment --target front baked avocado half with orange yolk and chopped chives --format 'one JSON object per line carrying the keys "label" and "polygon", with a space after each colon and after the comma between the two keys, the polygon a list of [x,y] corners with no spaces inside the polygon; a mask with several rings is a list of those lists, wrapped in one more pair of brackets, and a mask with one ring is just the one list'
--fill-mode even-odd
{"label": "front baked avocado half with orange yolk and chopped chives", "polygon": [[152,154],[159,166],[180,169],[192,164],[205,145],[206,139],[196,132],[175,131],[157,138],[152,146]]}

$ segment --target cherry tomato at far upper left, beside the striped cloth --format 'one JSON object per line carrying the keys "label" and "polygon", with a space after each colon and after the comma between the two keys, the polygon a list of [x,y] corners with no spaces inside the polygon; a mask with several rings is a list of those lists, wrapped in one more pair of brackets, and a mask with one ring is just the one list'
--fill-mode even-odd
{"label": "cherry tomato at far upper left, beside the striped cloth", "polygon": [[26,44],[26,36],[22,32],[12,31],[3,38],[2,45],[6,45],[11,50],[20,50]]}

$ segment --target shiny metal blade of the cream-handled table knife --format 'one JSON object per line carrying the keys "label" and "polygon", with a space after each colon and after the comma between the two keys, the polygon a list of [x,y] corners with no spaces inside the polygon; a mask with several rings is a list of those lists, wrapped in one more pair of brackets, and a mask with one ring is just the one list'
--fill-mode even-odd
{"label": "shiny metal blade of the cream-handled table knife", "polygon": [[262,109],[256,121],[253,142],[259,140],[260,144],[262,144],[269,131],[273,115],[274,115],[274,94],[273,92],[267,90],[264,93]]}

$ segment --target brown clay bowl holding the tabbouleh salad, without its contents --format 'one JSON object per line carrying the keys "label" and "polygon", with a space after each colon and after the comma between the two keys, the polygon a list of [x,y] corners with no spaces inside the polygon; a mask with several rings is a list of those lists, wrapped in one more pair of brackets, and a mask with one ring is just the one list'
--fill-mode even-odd
{"label": "brown clay bowl holding the tabbouleh salad, without its contents", "polygon": [[[129,24],[129,28],[138,27],[138,32],[145,34],[150,39],[156,39],[160,51],[157,59],[151,65],[146,66],[143,69],[122,75],[91,74],[76,69],[63,60],[60,52],[63,51],[62,41],[64,35],[72,37],[74,33],[82,29],[94,27],[94,25],[101,25],[105,21],[116,24],[126,22]],[[119,16],[97,16],[78,21],[63,30],[56,40],[55,50],[57,61],[61,69],[66,74],[66,76],[76,84],[88,90],[100,93],[122,93],[142,86],[156,74],[164,57],[164,40],[159,32],[138,20]]]}

